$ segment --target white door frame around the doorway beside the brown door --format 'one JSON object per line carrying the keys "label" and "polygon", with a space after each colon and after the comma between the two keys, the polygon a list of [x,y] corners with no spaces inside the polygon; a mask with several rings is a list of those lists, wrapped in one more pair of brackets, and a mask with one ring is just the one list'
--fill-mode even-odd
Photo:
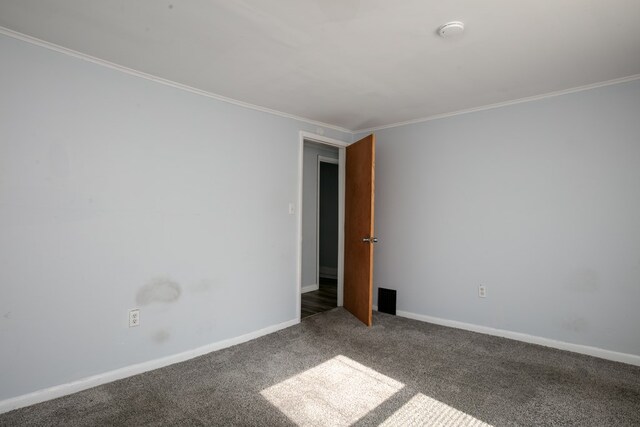
{"label": "white door frame around the doorway beside the brown door", "polygon": [[[351,142],[340,141],[311,132],[300,131],[298,143],[298,234],[297,234],[297,277],[296,308],[298,322],[302,311],[302,178],[304,172],[304,142],[315,142],[338,148],[338,307],[343,305],[344,298],[344,184],[346,147]],[[316,212],[317,215],[317,212]],[[317,255],[317,254],[316,254]]]}

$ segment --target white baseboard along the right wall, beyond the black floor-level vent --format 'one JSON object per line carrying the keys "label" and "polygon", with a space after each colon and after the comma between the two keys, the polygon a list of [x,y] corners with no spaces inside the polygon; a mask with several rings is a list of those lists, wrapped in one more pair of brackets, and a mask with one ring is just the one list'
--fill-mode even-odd
{"label": "white baseboard along the right wall, beyond the black floor-level vent", "polygon": [[425,316],[423,314],[411,313],[409,311],[397,311],[396,314],[400,317],[420,320],[421,322],[435,323],[436,325],[448,326],[450,328],[464,329],[466,331],[478,332],[481,334],[493,335],[496,337],[509,338],[512,340],[522,341],[530,344],[537,344],[545,347],[557,348],[559,350],[566,350],[574,353],[586,354],[588,356],[599,357],[601,359],[613,360],[614,362],[622,362],[628,363],[630,365],[640,366],[640,356],[637,356],[635,354],[619,353],[617,351],[605,350],[603,348],[557,341],[550,338],[538,337],[535,335],[523,334],[520,332],[490,328],[488,326],[474,325],[472,323],[458,322],[456,320]]}

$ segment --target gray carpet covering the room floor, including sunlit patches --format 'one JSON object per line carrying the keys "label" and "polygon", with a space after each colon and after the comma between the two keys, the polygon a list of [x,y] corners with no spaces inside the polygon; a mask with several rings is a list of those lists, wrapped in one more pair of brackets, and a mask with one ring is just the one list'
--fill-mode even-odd
{"label": "gray carpet covering the room floor, including sunlit patches", "polygon": [[639,426],[640,367],[338,308],[0,425]]}

